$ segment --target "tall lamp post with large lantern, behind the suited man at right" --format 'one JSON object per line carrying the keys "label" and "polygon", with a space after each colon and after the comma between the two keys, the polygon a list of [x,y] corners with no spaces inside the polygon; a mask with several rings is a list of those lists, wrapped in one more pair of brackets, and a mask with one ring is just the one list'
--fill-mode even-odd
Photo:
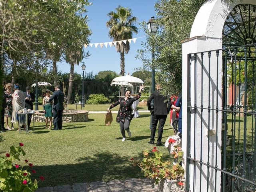
{"label": "tall lamp post with large lantern, behind the suited man at right", "polygon": [[[158,28],[158,24],[156,24],[154,22],[154,18],[155,17],[151,17],[151,19],[147,22],[148,32],[150,32],[151,34],[156,33],[157,28]],[[153,62],[153,59],[155,58],[155,53],[154,53],[153,47],[152,47],[151,52],[152,52],[151,58],[152,58],[152,62]],[[151,92],[153,92],[154,90],[155,90],[155,69],[152,66],[152,68],[151,68]],[[151,105],[151,108],[153,108],[154,100],[151,101],[150,105]],[[149,128],[150,129],[152,128],[152,115],[150,116],[150,127]]]}

